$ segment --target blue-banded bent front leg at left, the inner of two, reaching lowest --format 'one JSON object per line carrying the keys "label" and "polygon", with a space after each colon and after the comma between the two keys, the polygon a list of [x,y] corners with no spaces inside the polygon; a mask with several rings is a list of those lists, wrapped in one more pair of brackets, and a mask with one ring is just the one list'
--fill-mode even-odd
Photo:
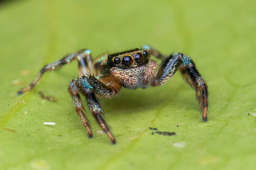
{"label": "blue-banded bent front leg at left, the inner of two, reaching lowest", "polygon": [[[109,79],[109,81],[111,81],[110,79],[113,79],[114,81],[114,77],[109,77],[107,79]],[[97,120],[97,123],[100,125],[102,130],[110,138],[112,144],[115,144],[116,140],[114,138],[114,135],[112,135],[110,128],[108,128],[107,123],[102,118],[102,115],[104,115],[104,111],[100,106],[100,103],[97,100],[95,94],[103,97],[111,97],[117,94],[117,92],[119,91],[118,89],[121,89],[121,86],[119,85],[119,87],[118,86],[113,87],[114,86],[113,84],[110,86],[107,86],[105,84],[102,84],[102,82],[95,79],[94,77],[88,76],[88,75],[82,76],[80,77],[80,79],[75,81],[77,81],[77,84],[78,84],[77,87],[80,89],[81,93],[86,98],[87,106],[90,109],[90,112],[95,117],[95,119]]]}

